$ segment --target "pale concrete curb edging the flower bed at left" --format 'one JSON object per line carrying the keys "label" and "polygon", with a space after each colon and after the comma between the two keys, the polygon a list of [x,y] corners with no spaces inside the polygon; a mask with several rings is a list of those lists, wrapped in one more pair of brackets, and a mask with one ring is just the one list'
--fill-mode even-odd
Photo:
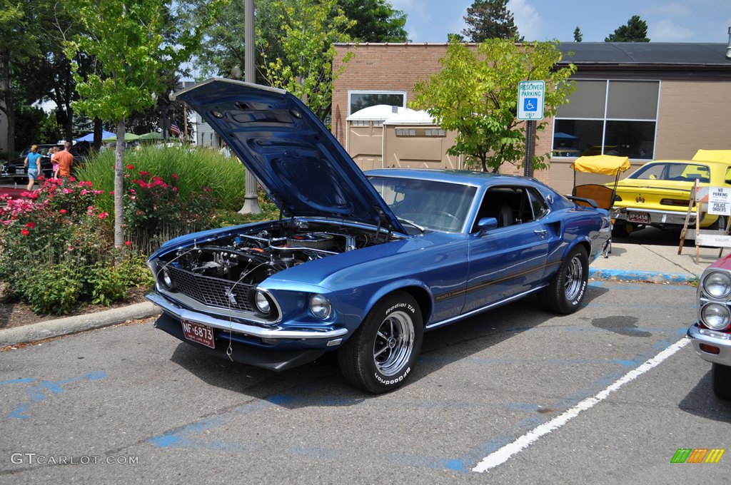
{"label": "pale concrete curb edging the flower bed at left", "polygon": [[122,324],[128,320],[148,318],[160,313],[160,308],[151,302],[136,303],[126,307],[112,308],[86,315],[57,318],[38,324],[17,326],[0,330],[0,347],[18,343],[32,343],[51,337],[71,335],[85,330],[99,329],[104,326]]}

